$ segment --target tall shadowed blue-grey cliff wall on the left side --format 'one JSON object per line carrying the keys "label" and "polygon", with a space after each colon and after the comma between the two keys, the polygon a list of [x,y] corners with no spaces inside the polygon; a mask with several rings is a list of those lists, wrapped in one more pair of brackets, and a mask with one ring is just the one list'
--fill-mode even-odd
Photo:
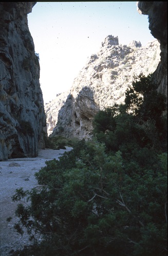
{"label": "tall shadowed blue-grey cliff wall on the left side", "polygon": [[0,160],[36,157],[46,118],[27,14],[35,2],[0,3]]}

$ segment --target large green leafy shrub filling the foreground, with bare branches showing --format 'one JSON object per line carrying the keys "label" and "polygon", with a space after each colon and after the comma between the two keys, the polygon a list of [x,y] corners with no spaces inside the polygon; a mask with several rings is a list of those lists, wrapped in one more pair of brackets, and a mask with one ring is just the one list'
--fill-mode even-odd
{"label": "large green leafy shrub filling the foreground, with bare branches showing", "polygon": [[13,199],[31,204],[18,205],[16,230],[41,233],[41,253],[33,255],[165,255],[165,157],[145,172],[129,162],[127,173],[120,151],[109,155],[103,144],[80,142],[35,174],[40,191],[17,190]]}

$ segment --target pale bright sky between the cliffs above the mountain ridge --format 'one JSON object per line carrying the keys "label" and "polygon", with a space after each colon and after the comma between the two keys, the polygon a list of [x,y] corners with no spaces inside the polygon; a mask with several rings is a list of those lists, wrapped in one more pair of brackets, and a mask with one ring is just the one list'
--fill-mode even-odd
{"label": "pale bright sky between the cliffs above the mountain ridge", "polygon": [[44,103],[71,88],[106,36],[118,36],[122,45],[154,41],[148,25],[136,2],[37,2],[28,14],[28,26],[40,56]]}

